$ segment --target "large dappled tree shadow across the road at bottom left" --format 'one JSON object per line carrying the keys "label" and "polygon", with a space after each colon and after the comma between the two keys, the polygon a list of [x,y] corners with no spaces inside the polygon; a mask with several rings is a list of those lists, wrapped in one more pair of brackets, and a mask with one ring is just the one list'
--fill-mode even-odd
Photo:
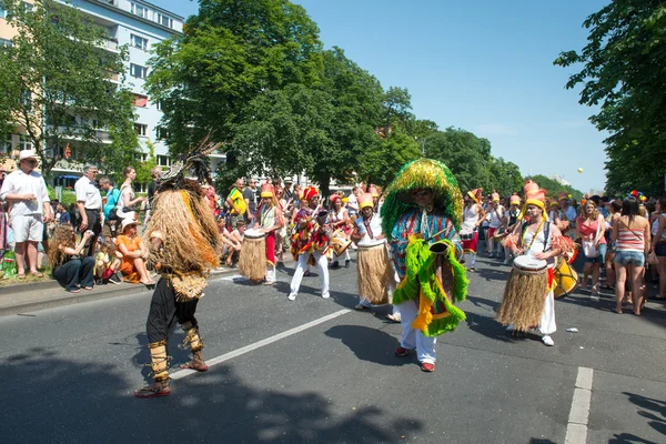
{"label": "large dappled tree shadow across the road at bottom left", "polygon": [[[285,381],[285,385],[293,381]],[[109,365],[33,349],[0,364],[4,442],[400,443],[417,417],[376,406],[350,413],[319,393],[261,390],[230,366],[138,400]]]}

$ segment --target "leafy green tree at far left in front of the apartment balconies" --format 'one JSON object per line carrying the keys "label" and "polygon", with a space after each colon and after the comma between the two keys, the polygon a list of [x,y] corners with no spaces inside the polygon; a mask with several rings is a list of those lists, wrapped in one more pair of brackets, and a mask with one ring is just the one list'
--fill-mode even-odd
{"label": "leafy green tree at far left in front of the apartment balconies", "polygon": [[133,153],[132,97],[111,82],[115,75],[120,84],[124,80],[127,48],[105,50],[107,31],[71,6],[3,4],[18,31],[10,47],[0,47],[3,132],[27,134],[47,176],[67,144],[82,162],[99,162],[110,151]]}

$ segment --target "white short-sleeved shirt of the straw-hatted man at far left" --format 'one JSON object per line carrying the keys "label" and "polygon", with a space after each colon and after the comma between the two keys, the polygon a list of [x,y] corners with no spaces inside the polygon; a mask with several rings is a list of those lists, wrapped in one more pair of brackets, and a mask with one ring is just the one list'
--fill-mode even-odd
{"label": "white short-sleeved shirt of the straw-hatted man at far left", "polygon": [[37,198],[32,201],[11,201],[11,216],[43,214],[43,203],[51,202],[44,178],[37,171],[26,174],[18,169],[7,175],[0,190],[0,199],[6,200],[8,194],[34,194]]}

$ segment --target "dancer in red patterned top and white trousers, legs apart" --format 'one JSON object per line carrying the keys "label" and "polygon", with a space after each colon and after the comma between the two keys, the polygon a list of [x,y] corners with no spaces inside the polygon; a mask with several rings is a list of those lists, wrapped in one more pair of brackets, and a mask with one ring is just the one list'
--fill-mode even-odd
{"label": "dancer in red patterned top and white trousers, legs apart", "polygon": [[322,297],[329,299],[329,252],[331,240],[331,228],[329,214],[321,210],[319,204],[320,194],[314,186],[307,186],[303,192],[303,205],[295,218],[295,233],[292,235],[292,254],[297,260],[296,270],[292,278],[287,299],[295,301],[301,287],[303,274],[309,262],[316,263],[322,276]]}

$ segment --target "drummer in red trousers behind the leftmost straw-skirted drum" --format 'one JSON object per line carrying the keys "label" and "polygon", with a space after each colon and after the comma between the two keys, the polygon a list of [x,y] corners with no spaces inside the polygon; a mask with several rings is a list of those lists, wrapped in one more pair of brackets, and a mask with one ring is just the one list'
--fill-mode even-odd
{"label": "drummer in red trousers behind the leftmost straw-skirted drum", "polygon": [[266,278],[265,285],[275,283],[275,233],[284,225],[282,210],[276,205],[273,185],[261,185],[261,203],[254,213],[254,229],[266,234]]}

